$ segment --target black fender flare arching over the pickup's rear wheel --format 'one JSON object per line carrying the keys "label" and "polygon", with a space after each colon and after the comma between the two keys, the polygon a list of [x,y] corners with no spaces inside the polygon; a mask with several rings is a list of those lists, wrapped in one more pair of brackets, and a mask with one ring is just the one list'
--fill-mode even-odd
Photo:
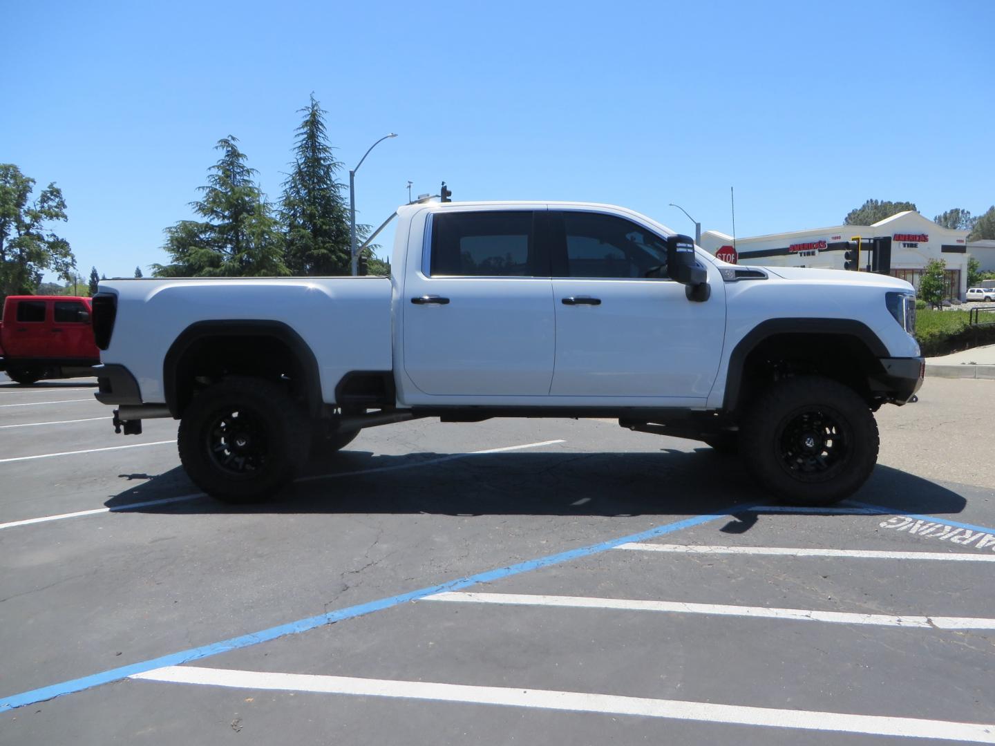
{"label": "black fender flare arching over the pickup's rear wheel", "polygon": [[170,414],[179,419],[181,413],[176,370],[186,352],[195,343],[211,337],[271,337],[286,344],[301,364],[307,410],[311,416],[321,410],[321,377],[314,352],[290,325],[268,319],[213,319],[195,321],[173,340],[162,361],[162,387]]}

